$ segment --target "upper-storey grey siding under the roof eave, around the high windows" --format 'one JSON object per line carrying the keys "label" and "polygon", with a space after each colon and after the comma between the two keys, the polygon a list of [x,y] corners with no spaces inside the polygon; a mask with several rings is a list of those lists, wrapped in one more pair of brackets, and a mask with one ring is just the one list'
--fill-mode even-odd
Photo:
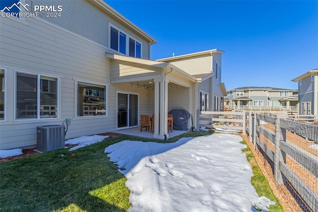
{"label": "upper-storey grey siding under the roof eave, around the high windows", "polygon": [[[26,0],[31,5],[62,5],[61,17],[41,17],[41,19],[60,26],[93,42],[108,47],[109,23],[115,25],[143,44],[142,57],[150,59],[148,41],[137,36],[113,17],[85,0]],[[29,20],[30,18],[26,18]]]}

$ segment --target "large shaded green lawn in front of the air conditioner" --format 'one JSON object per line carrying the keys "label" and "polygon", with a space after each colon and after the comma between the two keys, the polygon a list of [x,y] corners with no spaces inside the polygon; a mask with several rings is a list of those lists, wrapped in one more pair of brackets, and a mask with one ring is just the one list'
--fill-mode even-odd
{"label": "large shaded green lawn in front of the air conditioner", "polygon": [[[80,148],[74,151],[74,157],[71,157],[73,152],[68,149],[60,149],[0,163],[0,211],[125,211],[130,207],[130,191],[125,187],[126,178],[109,161],[104,153],[105,147],[122,140],[170,143],[181,137],[208,134],[211,132],[193,131],[165,141],[119,136]],[[257,178],[252,183],[253,181],[266,182]],[[262,188],[256,191],[262,191],[260,189]],[[267,194],[264,196],[274,200]],[[278,204],[277,200],[276,202]]]}

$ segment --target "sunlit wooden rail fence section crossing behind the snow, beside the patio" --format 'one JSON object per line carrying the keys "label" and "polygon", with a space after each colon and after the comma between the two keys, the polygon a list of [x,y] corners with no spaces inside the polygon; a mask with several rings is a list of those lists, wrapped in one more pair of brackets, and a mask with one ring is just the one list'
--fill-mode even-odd
{"label": "sunlit wooden rail fence section crossing behind the snow, beside the patio", "polygon": [[[198,111],[199,126],[219,127],[223,129],[239,129],[245,134],[245,112],[235,111]],[[218,125],[212,124],[218,123]]]}

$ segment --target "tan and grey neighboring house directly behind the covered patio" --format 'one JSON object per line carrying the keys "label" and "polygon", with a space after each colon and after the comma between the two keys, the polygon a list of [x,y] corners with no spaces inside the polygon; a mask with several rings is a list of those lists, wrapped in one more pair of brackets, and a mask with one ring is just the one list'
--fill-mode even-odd
{"label": "tan and grey neighboring house directly behind the covered patio", "polygon": [[200,111],[221,111],[224,109],[224,97],[227,96],[225,85],[221,81],[223,53],[222,50],[212,49],[158,61],[173,64],[196,78],[196,107]]}

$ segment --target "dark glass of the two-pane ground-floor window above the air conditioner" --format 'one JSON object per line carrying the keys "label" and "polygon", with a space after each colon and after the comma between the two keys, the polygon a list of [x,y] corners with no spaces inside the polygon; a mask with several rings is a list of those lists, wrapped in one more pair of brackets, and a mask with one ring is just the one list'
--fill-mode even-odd
{"label": "dark glass of the two-pane ground-floor window above the air conditioner", "polygon": [[16,119],[58,117],[57,78],[16,73]]}

